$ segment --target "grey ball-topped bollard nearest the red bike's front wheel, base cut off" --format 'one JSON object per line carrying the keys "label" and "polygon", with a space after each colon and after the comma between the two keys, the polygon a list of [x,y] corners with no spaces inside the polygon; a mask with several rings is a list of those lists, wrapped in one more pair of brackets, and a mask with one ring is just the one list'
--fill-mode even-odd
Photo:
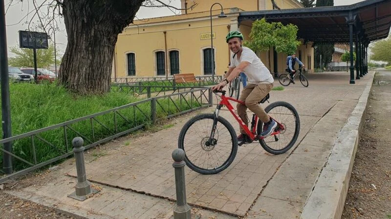
{"label": "grey ball-topped bollard nearest the red bike's front wheel, base cut off", "polygon": [[186,202],[185,186],[185,151],[176,148],[173,151],[173,166],[175,168],[176,204],[174,207],[174,219],[191,219],[191,209]]}

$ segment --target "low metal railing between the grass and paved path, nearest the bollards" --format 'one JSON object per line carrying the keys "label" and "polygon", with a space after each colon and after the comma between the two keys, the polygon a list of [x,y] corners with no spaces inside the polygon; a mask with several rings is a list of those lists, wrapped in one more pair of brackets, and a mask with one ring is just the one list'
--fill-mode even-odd
{"label": "low metal railing between the grass and paved path, nearest the bollards", "polygon": [[[210,107],[212,100],[212,92],[209,88],[192,88],[187,91],[147,98],[2,139],[0,140],[1,145],[11,142],[14,148],[21,149],[10,153],[1,146],[2,153],[13,157],[13,169],[16,172],[9,175],[0,172],[3,174],[0,175],[2,177],[0,183],[73,155],[71,141],[74,137],[82,137],[87,149],[143,128],[147,124],[156,124],[161,119]],[[76,125],[79,128],[76,128]],[[42,155],[55,154],[55,156],[40,157],[37,155],[38,150],[43,151],[40,153]]]}

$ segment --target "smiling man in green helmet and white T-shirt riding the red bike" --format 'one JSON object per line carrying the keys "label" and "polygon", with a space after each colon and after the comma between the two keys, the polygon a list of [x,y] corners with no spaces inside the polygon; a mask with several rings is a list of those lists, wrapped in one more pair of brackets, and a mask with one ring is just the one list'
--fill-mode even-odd
{"label": "smiling man in green helmet and white T-shirt riding the red bike", "polygon": [[[247,108],[250,109],[264,123],[263,131],[260,135],[264,137],[269,136],[273,129],[277,127],[277,123],[270,119],[258,102],[272,90],[273,76],[251,49],[242,46],[243,35],[239,31],[229,32],[225,39],[234,55],[230,58],[231,64],[224,79],[216,86],[213,86],[212,90],[221,90],[236,78],[239,73],[243,72],[247,76],[248,84],[240,93],[239,100],[245,102],[245,105],[237,104],[238,115],[248,126],[246,110]],[[238,145],[251,143],[251,139],[245,133],[244,129],[240,127]]]}

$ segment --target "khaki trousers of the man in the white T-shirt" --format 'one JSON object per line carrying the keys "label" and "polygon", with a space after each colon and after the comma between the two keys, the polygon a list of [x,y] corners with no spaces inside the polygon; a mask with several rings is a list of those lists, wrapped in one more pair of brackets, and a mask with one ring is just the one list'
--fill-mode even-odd
{"label": "khaki trousers of the man in the white T-shirt", "polygon": [[[273,84],[247,84],[240,93],[239,100],[245,102],[243,104],[237,104],[236,108],[238,115],[243,120],[244,124],[248,127],[247,108],[254,112],[263,123],[269,122],[270,118],[266,114],[265,110],[261,108],[258,102],[261,101],[273,88]],[[240,127],[240,133],[245,134],[243,128]]]}

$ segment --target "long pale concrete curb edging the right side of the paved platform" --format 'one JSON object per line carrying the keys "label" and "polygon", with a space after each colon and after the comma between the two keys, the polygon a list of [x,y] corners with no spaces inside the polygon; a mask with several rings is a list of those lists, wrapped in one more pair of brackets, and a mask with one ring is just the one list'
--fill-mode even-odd
{"label": "long pale concrete curb edging the right side of the paved platform", "polygon": [[[374,77],[374,74],[368,76]],[[350,174],[366,118],[372,80],[360,96],[348,122],[341,129],[335,145],[305,202],[302,219],[340,219],[348,194]]]}

